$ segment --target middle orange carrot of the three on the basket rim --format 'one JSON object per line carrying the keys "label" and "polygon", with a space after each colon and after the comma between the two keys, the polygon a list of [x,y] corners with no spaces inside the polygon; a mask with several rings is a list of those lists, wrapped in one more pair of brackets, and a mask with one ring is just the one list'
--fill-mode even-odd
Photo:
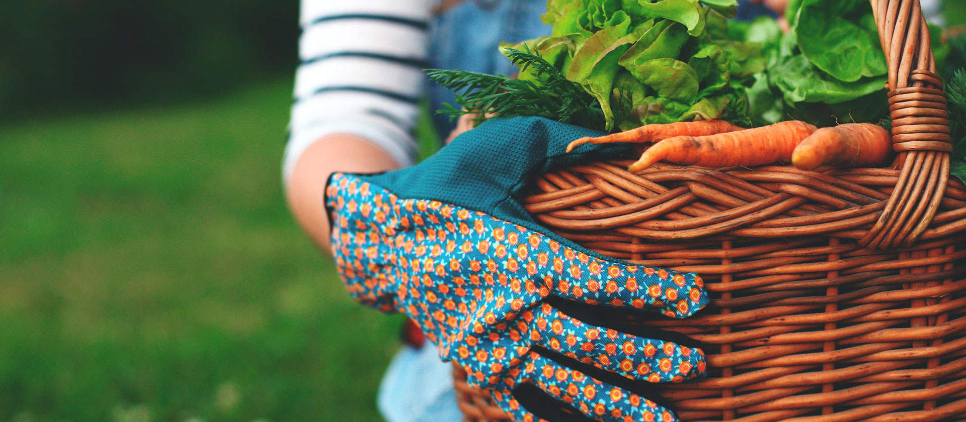
{"label": "middle orange carrot of the three on the basket rim", "polygon": [[759,166],[789,161],[795,145],[815,130],[809,123],[792,120],[717,135],[668,138],[644,150],[630,171],[642,171],[661,160],[701,167]]}

